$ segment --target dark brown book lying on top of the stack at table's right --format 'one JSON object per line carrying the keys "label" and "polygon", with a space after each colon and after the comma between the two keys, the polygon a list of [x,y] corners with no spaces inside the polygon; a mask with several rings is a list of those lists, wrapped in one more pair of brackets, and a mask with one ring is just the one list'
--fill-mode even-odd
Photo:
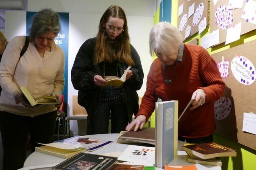
{"label": "dark brown book lying on top of the stack at table's right", "polygon": [[186,145],[182,146],[181,149],[201,159],[210,159],[221,156],[236,156],[236,150],[214,142]]}

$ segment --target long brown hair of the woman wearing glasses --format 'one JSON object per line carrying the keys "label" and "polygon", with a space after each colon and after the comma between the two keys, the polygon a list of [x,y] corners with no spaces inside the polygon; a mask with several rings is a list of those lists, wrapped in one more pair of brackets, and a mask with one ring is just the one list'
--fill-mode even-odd
{"label": "long brown hair of the woman wearing glasses", "polygon": [[[110,45],[110,41],[105,32],[103,25],[108,21],[110,17],[120,18],[124,20],[124,26],[122,33],[114,40],[114,55],[111,52],[113,48]],[[128,66],[134,66],[134,61],[130,54],[130,37],[128,34],[127,20],[124,10],[119,6],[110,6],[104,12],[100,19],[99,31],[96,36],[96,46],[94,49],[95,64],[103,61],[118,60],[120,63],[126,63]]]}

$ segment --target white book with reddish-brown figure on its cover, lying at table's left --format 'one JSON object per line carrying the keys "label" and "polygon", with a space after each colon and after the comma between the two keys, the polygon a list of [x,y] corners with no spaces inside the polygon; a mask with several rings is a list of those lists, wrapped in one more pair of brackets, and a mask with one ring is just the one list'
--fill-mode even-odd
{"label": "white book with reddish-brown figure on its cover, lying at table's left", "polygon": [[111,145],[113,141],[104,141],[101,139],[88,138],[87,136],[74,136],[68,139],[56,141],[55,143],[63,143],[66,145],[72,145],[75,147],[86,148],[87,151],[94,151],[102,147]]}

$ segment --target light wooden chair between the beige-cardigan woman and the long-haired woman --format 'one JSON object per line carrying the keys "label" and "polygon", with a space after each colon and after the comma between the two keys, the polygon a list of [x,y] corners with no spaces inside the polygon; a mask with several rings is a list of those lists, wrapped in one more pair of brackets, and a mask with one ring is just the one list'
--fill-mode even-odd
{"label": "light wooden chair between the beige-cardigan woman and the long-haired woman", "polygon": [[67,116],[64,123],[64,139],[66,137],[66,126],[68,127],[67,135],[70,137],[70,120],[87,120],[87,111],[77,102],[77,96],[72,96],[73,115]]}

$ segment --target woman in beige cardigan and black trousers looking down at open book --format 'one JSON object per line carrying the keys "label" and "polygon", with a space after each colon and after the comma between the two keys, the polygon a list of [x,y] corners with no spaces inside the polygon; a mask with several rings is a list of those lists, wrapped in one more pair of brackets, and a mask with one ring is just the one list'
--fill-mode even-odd
{"label": "woman in beige cardigan and black trousers looking down at open book", "polygon": [[59,16],[51,9],[34,16],[29,44],[20,53],[25,36],[14,37],[6,46],[0,63],[0,131],[4,148],[4,170],[23,167],[26,136],[30,133],[32,152],[36,143],[52,143],[57,108],[44,104],[32,107],[19,90],[25,86],[35,100],[52,93],[60,101],[64,88],[64,51],[54,39],[60,31]]}

